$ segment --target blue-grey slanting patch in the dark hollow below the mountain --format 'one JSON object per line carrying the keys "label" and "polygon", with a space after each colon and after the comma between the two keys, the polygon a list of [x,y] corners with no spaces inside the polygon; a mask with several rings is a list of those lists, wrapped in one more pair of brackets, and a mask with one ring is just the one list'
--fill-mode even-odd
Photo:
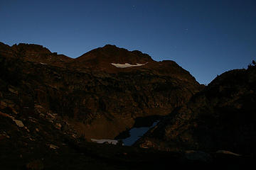
{"label": "blue-grey slanting patch in the dark hollow below the mountain", "polygon": [[159,123],[159,120],[156,120],[153,125],[149,127],[132,128],[129,130],[129,137],[122,139],[122,142],[126,146],[132,146],[134,142],[139,140],[140,137],[142,137],[150,128],[153,128],[157,123]]}

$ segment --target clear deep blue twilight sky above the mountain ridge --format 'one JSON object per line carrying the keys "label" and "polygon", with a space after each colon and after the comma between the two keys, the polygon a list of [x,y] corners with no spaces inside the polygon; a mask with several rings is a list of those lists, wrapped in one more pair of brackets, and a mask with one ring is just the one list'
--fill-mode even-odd
{"label": "clear deep blue twilight sky above the mountain ridge", "polygon": [[105,44],[174,60],[201,84],[256,59],[255,0],[0,1],[0,41],[69,57]]}

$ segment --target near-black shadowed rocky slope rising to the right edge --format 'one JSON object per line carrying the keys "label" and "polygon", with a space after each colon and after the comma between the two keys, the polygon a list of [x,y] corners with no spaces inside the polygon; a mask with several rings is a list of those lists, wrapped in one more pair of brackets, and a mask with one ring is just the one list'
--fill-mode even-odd
{"label": "near-black shadowed rocky slope rising to the right edge", "polygon": [[256,67],[216,77],[135,145],[164,150],[255,153]]}

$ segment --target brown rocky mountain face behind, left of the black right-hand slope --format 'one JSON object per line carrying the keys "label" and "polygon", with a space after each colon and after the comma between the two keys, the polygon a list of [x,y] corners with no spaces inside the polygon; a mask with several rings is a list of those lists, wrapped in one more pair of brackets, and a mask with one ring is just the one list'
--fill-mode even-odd
{"label": "brown rocky mountain face behind, left of the black right-hand slope", "polygon": [[176,62],[113,45],[72,59],[41,45],[1,43],[0,72],[1,113],[55,115],[53,124],[88,139],[114,138],[135,118],[167,115],[202,89]]}

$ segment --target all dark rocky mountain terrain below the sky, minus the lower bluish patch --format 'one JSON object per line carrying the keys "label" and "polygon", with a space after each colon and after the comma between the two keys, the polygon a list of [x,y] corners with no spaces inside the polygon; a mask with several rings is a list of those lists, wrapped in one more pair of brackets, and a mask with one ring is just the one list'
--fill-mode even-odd
{"label": "all dark rocky mountain terrain below the sky, minus the lower bluish patch", "polygon": [[[73,59],[0,42],[0,73],[1,169],[209,169],[254,160],[255,67],[205,87],[176,62],[137,50],[105,45]],[[137,147],[91,141],[159,117]]]}

